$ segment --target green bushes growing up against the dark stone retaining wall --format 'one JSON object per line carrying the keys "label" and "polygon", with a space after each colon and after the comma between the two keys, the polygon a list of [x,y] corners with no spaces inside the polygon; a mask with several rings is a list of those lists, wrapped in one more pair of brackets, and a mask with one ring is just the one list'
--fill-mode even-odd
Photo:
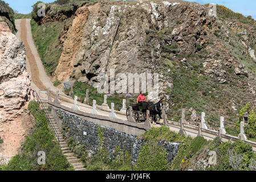
{"label": "green bushes growing up against the dark stone retaining wall", "polygon": [[[64,127],[64,135],[66,128]],[[141,137],[145,138],[145,144],[141,146],[141,152],[138,156],[138,162],[132,165],[132,156],[127,151],[122,151],[120,146],[115,147],[113,159],[109,159],[107,146],[104,146],[104,129],[98,127],[99,152],[89,158],[87,149],[84,145],[79,145],[73,138],[68,138],[68,146],[82,160],[87,170],[92,171],[165,171],[170,166],[166,159],[166,150],[157,141],[166,139],[168,142],[177,142],[185,139],[167,127],[152,128]],[[139,137],[139,138],[141,138]]]}

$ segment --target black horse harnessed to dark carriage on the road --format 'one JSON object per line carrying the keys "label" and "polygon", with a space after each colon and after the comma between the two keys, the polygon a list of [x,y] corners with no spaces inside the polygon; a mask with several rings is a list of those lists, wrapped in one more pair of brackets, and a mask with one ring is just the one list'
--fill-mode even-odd
{"label": "black horse harnessed to dark carriage on the road", "polygon": [[[141,104],[131,104],[132,106],[132,117],[135,119],[136,122],[141,122],[141,120],[147,119],[147,110],[149,110],[149,115],[152,120],[152,122],[157,121],[157,115],[159,115],[161,119],[162,114],[162,101],[164,101],[163,98],[156,104],[153,102],[142,102]],[[126,111],[127,119],[129,117],[129,107]]]}

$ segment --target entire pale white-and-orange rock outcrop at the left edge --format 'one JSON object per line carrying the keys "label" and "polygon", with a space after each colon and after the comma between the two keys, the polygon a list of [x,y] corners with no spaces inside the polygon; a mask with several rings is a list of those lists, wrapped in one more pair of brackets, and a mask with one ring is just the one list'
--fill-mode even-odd
{"label": "entire pale white-and-orange rock outcrop at the left edge", "polygon": [[31,118],[24,110],[31,97],[26,50],[5,22],[0,24],[0,63],[0,137],[3,139],[0,164],[3,164],[18,153],[31,127]]}

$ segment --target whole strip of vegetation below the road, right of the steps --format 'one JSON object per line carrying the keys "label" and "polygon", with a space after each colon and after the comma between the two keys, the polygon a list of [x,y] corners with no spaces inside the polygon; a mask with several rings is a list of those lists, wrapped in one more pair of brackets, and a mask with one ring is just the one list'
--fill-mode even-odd
{"label": "whole strip of vegetation below the road, right of the steps", "polygon": [[[256,170],[256,154],[250,144],[241,140],[230,143],[221,142],[216,138],[207,141],[203,137],[181,137],[180,134],[170,131],[168,127],[152,127],[139,139],[145,143],[140,148],[138,161],[131,164],[131,155],[127,151],[121,151],[116,146],[115,159],[108,158],[108,150],[104,146],[103,130],[99,127],[99,152],[93,158],[89,158],[85,146],[79,145],[73,138],[69,138],[68,146],[83,161],[88,170],[135,170],[135,171],[247,171]],[[159,141],[181,143],[178,154],[172,164],[166,159],[166,150],[157,142]],[[216,152],[216,164],[210,164],[209,152]]]}

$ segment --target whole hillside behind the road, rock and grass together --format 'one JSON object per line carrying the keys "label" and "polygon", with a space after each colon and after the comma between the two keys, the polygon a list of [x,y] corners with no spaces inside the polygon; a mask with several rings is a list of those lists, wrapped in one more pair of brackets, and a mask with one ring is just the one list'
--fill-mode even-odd
{"label": "whole hillside behind the road, rock and grass together", "polygon": [[32,22],[52,82],[96,86],[97,75],[111,68],[116,74],[159,73],[160,96],[170,109],[204,111],[214,125],[221,115],[237,122],[239,110],[255,100],[256,25],[250,16],[217,6],[216,19],[208,5],[184,1],[75,3],[49,4],[46,16]]}

